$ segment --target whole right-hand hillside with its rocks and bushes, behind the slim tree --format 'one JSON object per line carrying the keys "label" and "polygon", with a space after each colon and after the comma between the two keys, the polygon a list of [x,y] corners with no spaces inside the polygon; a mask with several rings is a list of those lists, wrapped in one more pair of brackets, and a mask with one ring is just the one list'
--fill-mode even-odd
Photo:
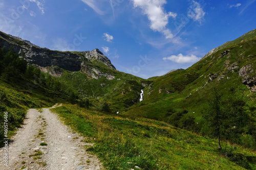
{"label": "whole right-hand hillside with its rocks and bushes, behind the slim tree", "polygon": [[223,138],[256,145],[256,30],[215,48],[185,70],[148,79],[144,100],[123,112],[212,136],[207,115],[221,94]]}

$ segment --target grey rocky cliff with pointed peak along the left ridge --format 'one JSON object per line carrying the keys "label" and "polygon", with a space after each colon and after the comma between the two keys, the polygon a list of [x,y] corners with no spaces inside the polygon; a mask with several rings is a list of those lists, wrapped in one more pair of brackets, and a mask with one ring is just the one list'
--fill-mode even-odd
{"label": "grey rocky cliff with pointed peak along the left ridge", "polygon": [[[89,73],[89,76],[92,76],[92,72],[100,72],[93,70],[91,61],[94,60],[104,63],[111,69],[116,69],[108,57],[104,56],[97,48],[93,51],[80,52],[81,55],[72,52],[52,51],[48,48],[40,48],[27,40],[7,35],[3,32],[0,32],[0,47],[5,47],[6,49],[12,47],[16,53],[20,55],[24,53],[25,59],[29,64],[38,66],[43,71],[49,71],[50,74],[51,72],[56,72],[50,68],[58,66],[68,71],[87,70],[82,72]],[[104,73],[100,73],[100,75],[93,75],[92,77],[99,78],[105,76]]]}

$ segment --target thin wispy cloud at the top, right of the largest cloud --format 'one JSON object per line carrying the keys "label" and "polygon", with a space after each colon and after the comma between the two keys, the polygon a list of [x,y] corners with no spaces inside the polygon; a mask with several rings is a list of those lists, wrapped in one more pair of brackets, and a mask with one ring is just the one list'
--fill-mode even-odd
{"label": "thin wispy cloud at the top, right of the largest cloud", "polygon": [[205,12],[203,10],[203,8],[200,6],[199,3],[193,1],[193,4],[190,5],[189,9],[188,9],[188,13],[187,16],[191,19],[193,19],[194,21],[199,21],[201,23]]}

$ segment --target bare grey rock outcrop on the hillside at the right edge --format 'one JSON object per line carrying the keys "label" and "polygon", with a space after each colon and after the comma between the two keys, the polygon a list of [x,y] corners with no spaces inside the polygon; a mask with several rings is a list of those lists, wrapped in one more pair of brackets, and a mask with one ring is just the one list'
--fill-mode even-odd
{"label": "bare grey rock outcrop on the hillside at the right edge", "polygon": [[256,92],[256,76],[250,76],[249,74],[251,74],[254,70],[252,69],[252,65],[248,64],[246,66],[243,66],[238,74],[239,76],[242,76],[244,79],[242,81],[243,84],[245,84],[249,89],[251,89],[251,91],[255,91]]}

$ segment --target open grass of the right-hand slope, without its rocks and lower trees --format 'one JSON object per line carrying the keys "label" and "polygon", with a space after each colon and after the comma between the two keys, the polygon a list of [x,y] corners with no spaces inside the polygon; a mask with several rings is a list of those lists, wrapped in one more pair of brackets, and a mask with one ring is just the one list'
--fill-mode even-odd
{"label": "open grass of the right-hand slope, without its rocks and lower trees", "polygon": [[[174,71],[162,77],[149,79],[153,81],[153,87],[149,89],[150,86],[147,86],[144,89],[144,101],[132,106],[124,114],[168,121],[168,110],[186,109],[188,113],[184,116],[193,116],[196,118],[195,124],[200,124],[200,117],[205,113],[207,99],[209,99],[213,87],[217,87],[223,94],[224,101],[243,100],[246,102],[245,110],[254,106],[256,94],[250,92],[250,89],[242,84],[242,77],[238,76],[238,71],[247,64],[252,64],[253,69],[256,70],[254,64],[256,31],[253,30],[234,41],[227,42],[218,49],[219,51],[186,70]],[[219,58],[221,52],[229,49],[231,49],[229,55]],[[228,66],[237,62],[238,68],[231,72],[227,69],[228,66],[225,66],[225,62],[228,63]],[[204,86],[211,74],[218,74],[218,78],[221,75],[225,77],[219,81],[217,78]],[[255,74],[255,71],[252,74]],[[227,78],[229,79],[227,80]],[[166,91],[172,93],[167,94]],[[151,94],[147,95],[148,92]],[[189,98],[186,99],[187,96]],[[252,118],[255,118],[255,112],[250,114]]]}

